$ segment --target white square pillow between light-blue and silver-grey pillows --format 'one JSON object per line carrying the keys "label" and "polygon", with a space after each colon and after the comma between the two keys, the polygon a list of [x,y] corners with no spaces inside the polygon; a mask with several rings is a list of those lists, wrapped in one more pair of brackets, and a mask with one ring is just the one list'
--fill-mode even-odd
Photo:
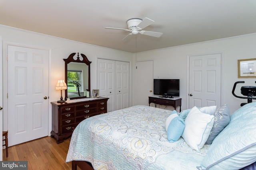
{"label": "white square pillow between light-blue and silver-grey pillows", "polygon": [[185,119],[183,139],[192,149],[200,151],[209,137],[213,122],[213,115],[202,113],[194,106]]}

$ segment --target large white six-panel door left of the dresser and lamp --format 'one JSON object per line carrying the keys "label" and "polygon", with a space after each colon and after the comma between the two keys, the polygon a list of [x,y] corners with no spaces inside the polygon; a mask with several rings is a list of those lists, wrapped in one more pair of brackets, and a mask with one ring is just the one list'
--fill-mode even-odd
{"label": "large white six-panel door left of the dresser and lamp", "polygon": [[48,136],[48,51],[8,45],[9,146]]}

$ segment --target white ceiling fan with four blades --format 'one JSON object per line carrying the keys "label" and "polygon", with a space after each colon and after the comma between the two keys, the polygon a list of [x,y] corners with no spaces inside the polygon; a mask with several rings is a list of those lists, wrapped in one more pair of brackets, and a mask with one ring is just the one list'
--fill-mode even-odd
{"label": "white ceiling fan with four blades", "polygon": [[150,20],[149,18],[144,18],[144,20],[141,20],[139,18],[132,18],[127,21],[128,29],[112,28],[112,27],[105,27],[105,28],[130,31],[131,33],[129,33],[126,37],[124,37],[124,39],[126,39],[129,35],[136,35],[138,33],[140,33],[142,35],[149,35],[152,37],[160,37],[163,33],[142,30],[143,28],[147,27],[148,25],[151,25],[154,22],[155,21]]}

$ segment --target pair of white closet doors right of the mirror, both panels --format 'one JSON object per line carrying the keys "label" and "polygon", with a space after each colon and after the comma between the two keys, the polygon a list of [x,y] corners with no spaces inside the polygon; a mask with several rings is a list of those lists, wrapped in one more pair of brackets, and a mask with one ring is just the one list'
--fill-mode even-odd
{"label": "pair of white closet doors right of the mirror, both panels", "polygon": [[98,59],[98,89],[109,98],[108,112],[129,107],[129,63]]}

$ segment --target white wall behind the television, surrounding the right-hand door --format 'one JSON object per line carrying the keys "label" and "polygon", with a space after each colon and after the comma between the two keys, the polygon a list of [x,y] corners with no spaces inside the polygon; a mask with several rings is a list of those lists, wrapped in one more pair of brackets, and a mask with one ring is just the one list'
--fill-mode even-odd
{"label": "white wall behind the television, surrounding the right-hand door", "polygon": [[[180,98],[182,98],[182,109],[186,109],[188,91],[187,72],[188,55],[207,54],[214,52],[223,52],[224,68],[223,91],[221,104],[228,104],[230,112],[233,113],[240,108],[240,104],[247,102],[246,99],[235,98],[232,95],[234,82],[245,81],[244,84],[238,84],[235,93],[240,94],[241,86],[256,86],[255,78],[238,78],[238,59],[256,58],[256,33],[170,47],[154,51],[137,53],[137,61],[144,59],[154,59],[154,78],[179,78],[180,79]],[[253,100],[255,102],[255,100]]]}

